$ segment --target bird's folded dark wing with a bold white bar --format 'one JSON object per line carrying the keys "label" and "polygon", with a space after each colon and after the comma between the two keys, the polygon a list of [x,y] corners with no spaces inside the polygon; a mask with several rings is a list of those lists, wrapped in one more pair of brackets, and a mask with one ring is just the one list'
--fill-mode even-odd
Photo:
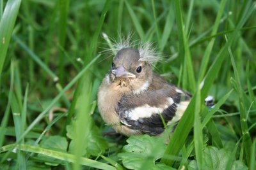
{"label": "bird's folded dark wing with a bold white bar", "polygon": [[176,87],[146,90],[123,96],[116,106],[122,124],[145,134],[157,135],[164,125],[178,122],[191,96]]}

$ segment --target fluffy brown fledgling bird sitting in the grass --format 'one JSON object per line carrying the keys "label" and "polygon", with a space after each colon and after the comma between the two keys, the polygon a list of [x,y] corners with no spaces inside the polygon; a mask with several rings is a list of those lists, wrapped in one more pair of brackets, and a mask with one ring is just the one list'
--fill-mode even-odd
{"label": "fluffy brown fledgling bird sitting in the grass", "polygon": [[[152,44],[116,45],[116,55],[97,94],[100,115],[124,136],[163,134],[179,122],[191,94],[154,73],[159,60]],[[211,103],[212,98],[207,101]]]}

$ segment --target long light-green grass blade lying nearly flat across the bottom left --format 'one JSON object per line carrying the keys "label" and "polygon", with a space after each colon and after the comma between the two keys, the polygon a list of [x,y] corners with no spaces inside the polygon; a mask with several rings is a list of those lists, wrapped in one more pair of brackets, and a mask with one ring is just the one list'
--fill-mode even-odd
{"label": "long light-green grass blade lying nearly flat across the bottom left", "polygon": [[[31,153],[40,153],[42,155],[45,155],[47,157],[51,157],[53,159],[59,159],[59,160],[64,160],[67,162],[76,162],[76,157],[75,155],[72,155],[70,153],[65,153],[65,152],[58,152],[55,150],[49,150],[49,149],[45,149],[45,148],[41,148],[39,146],[31,146],[31,145],[24,145],[21,144],[20,146],[15,146],[15,145],[6,145],[3,146],[0,150],[1,152],[6,152],[7,150],[12,150],[13,148],[17,148],[20,149],[24,152],[31,152]],[[102,162],[96,161],[96,160],[92,160],[92,159],[87,159],[84,157],[80,157],[79,159],[81,159],[81,165],[83,166],[89,166],[89,167],[95,167],[98,169],[109,169],[109,170],[114,170],[115,167],[113,166],[109,166],[108,164],[104,164]]]}

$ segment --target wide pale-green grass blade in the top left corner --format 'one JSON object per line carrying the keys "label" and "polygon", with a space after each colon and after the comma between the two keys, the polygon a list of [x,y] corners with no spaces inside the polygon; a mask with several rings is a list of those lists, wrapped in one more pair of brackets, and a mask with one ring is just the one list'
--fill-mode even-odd
{"label": "wide pale-green grass blade in the top left corner", "polygon": [[[4,8],[0,20],[0,75],[3,70],[6,52],[12,36],[13,27],[17,18],[21,0],[9,0]],[[3,5],[3,2],[2,4]]]}

